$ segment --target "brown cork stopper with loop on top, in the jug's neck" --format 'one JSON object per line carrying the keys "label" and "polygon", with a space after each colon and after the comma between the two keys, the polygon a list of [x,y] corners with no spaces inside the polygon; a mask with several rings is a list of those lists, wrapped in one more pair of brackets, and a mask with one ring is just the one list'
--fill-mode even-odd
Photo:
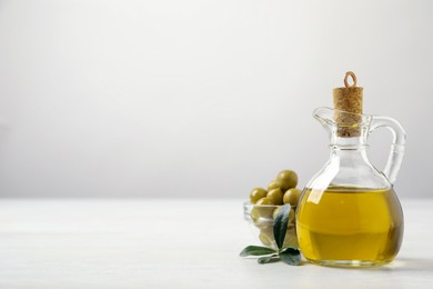
{"label": "brown cork stopper with loop on top, in the jug's neck", "polygon": [[[352,78],[353,84],[348,82]],[[362,87],[356,87],[356,76],[348,71],[344,76],[344,87],[334,88],[334,119],[338,123],[338,136],[341,138],[353,138],[361,134],[360,124],[362,123]],[[351,113],[344,113],[351,112]],[[352,114],[356,113],[356,114]]]}

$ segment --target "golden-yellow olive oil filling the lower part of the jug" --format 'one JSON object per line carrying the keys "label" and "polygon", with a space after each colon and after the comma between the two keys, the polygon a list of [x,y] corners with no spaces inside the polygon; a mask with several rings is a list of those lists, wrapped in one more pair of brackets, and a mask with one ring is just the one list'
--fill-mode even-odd
{"label": "golden-yellow olive oil filling the lower part of the jug", "polygon": [[376,266],[400,250],[403,212],[392,189],[306,188],[298,208],[299,245],[311,262]]}

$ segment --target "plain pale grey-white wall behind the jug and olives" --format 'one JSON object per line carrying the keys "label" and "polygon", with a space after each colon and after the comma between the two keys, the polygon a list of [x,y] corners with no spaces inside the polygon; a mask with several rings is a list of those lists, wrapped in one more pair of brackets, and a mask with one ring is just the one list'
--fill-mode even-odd
{"label": "plain pale grey-white wall behind the jug and olives", "polygon": [[[0,197],[248,197],[328,159],[353,70],[431,196],[432,1],[0,1]],[[372,138],[384,166],[391,137]]]}

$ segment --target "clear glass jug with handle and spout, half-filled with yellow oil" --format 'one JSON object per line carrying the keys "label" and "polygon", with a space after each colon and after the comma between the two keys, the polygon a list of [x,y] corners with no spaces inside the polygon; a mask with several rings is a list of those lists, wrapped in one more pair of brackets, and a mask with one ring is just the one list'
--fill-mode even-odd
{"label": "clear glass jug with handle and spout, half-filled with yellow oil", "polygon": [[[336,113],[354,121],[338,122]],[[331,157],[306,185],[298,206],[302,253],[310,262],[324,266],[391,262],[403,238],[403,212],[393,191],[404,155],[403,128],[392,118],[330,108],[318,108],[313,116],[329,132]],[[383,172],[370,163],[366,153],[369,133],[381,127],[393,132]],[[348,137],[345,130],[358,133]]]}

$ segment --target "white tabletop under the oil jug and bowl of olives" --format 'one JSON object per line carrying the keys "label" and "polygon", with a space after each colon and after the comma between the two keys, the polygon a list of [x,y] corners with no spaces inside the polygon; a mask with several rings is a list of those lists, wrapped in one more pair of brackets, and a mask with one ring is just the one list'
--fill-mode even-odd
{"label": "white tabletop under the oil jug and bowl of olives", "polygon": [[0,200],[0,288],[433,288],[433,199],[375,269],[259,265],[241,200]]}

